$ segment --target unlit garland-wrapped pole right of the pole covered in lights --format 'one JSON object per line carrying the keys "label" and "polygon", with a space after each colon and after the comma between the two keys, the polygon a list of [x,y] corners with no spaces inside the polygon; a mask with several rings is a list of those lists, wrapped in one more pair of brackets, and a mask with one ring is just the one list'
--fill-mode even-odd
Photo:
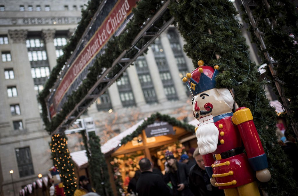
{"label": "unlit garland-wrapped pole right of the pole covered in lights", "polygon": [[89,132],[88,135],[90,152],[88,163],[94,188],[101,196],[112,195],[108,166],[105,162],[105,156],[100,149],[100,139],[95,134],[95,131]]}

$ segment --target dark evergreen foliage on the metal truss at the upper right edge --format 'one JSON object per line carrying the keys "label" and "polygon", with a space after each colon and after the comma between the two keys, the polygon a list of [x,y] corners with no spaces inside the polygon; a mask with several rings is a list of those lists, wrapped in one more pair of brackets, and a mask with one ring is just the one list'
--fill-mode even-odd
{"label": "dark evergreen foliage on the metal truss at the upper right edge", "polygon": [[[274,69],[276,70],[276,77],[272,77],[269,70],[267,70],[267,78],[271,81],[271,86],[273,87],[275,94],[278,96],[280,103],[281,97],[277,91],[274,81],[284,82],[281,83],[281,88],[284,91],[284,95],[290,101],[289,109],[293,112],[285,116],[287,121],[287,127],[292,129],[291,122],[297,127],[298,122],[298,96],[297,96],[297,84],[298,84],[298,45],[294,44],[294,41],[298,37],[298,14],[295,10],[294,5],[289,0],[279,0],[277,1],[268,0],[270,8],[267,9],[263,1],[254,2],[256,7],[253,10],[254,18],[268,18],[269,20],[274,19],[276,24],[273,28],[268,24],[266,20],[259,20],[257,23],[257,28],[264,33],[264,43],[266,45],[267,52],[274,59]],[[242,8],[244,9],[244,8]],[[253,42],[257,45],[261,45],[260,41],[254,34],[254,29],[251,26],[249,19],[246,14],[243,14],[243,18],[246,23],[249,24],[249,31],[251,32]],[[295,39],[290,37],[290,33],[294,34]],[[268,63],[264,56],[263,50],[259,48],[259,55],[262,57],[263,63]],[[268,69],[268,68],[267,68]],[[285,108],[285,106],[283,105]],[[298,135],[296,136],[298,137]]]}

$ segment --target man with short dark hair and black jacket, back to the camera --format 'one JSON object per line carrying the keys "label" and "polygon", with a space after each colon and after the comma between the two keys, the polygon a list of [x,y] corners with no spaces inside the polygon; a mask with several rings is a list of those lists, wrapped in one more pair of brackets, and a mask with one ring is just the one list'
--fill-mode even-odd
{"label": "man with short dark hair and black jacket, back to the camera", "polygon": [[139,161],[141,176],[136,183],[138,196],[170,196],[170,188],[164,183],[162,177],[152,173],[153,165],[150,160],[143,158]]}

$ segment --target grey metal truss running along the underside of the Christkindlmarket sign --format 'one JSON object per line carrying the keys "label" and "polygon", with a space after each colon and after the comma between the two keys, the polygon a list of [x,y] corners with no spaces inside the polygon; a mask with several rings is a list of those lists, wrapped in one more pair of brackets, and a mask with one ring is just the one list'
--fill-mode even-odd
{"label": "grey metal truss running along the underside of the Christkindlmarket sign", "polygon": [[[168,21],[164,21],[162,27],[158,28],[155,26],[156,22],[159,21],[159,19],[161,19],[164,15],[169,3],[170,0],[165,1],[163,6],[156,12],[156,14],[152,18],[148,18],[143,29],[138,33],[131,43],[131,48],[124,50],[112,63],[110,68],[103,70],[97,82],[88,91],[86,96],[74,107],[71,112],[69,112],[65,120],[55,129],[55,131],[52,132],[52,134],[63,134],[64,131],[69,128],[69,126],[71,126],[72,123],[74,123],[75,120],[79,118],[92,103],[94,103],[94,101],[96,101],[97,97],[102,95],[108,89],[108,87],[110,87],[111,84],[113,84],[122,75],[126,68],[128,68],[128,66],[131,65],[137,57],[142,55],[143,52],[150,46],[150,44],[153,43],[153,41],[174,22],[174,17],[172,17]],[[149,30],[152,27],[156,27],[157,31],[150,32]],[[140,42],[140,40],[144,37],[150,39],[146,43],[142,43],[142,41]],[[131,56],[131,54],[133,54],[133,57],[127,58],[127,56]]]}

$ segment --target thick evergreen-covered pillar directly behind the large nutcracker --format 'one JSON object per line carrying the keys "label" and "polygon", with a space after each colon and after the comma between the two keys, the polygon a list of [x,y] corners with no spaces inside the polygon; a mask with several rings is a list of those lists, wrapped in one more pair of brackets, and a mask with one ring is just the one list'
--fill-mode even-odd
{"label": "thick evergreen-covered pillar directly behind the large nutcracker", "polygon": [[295,184],[289,183],[294,181],[289,161],[277,143],[276,113],[266,98],[264,82],[258,80],[256,65],[249,59],[233,4],[229,0],[180,0],[171,1],[169,9],[194,65],[198,60],[219,65],[217,87],[234,89],[238,105],[251,109],[271,172],[271,180],[259,182],[259,186],[269,195],[297,195]]}

